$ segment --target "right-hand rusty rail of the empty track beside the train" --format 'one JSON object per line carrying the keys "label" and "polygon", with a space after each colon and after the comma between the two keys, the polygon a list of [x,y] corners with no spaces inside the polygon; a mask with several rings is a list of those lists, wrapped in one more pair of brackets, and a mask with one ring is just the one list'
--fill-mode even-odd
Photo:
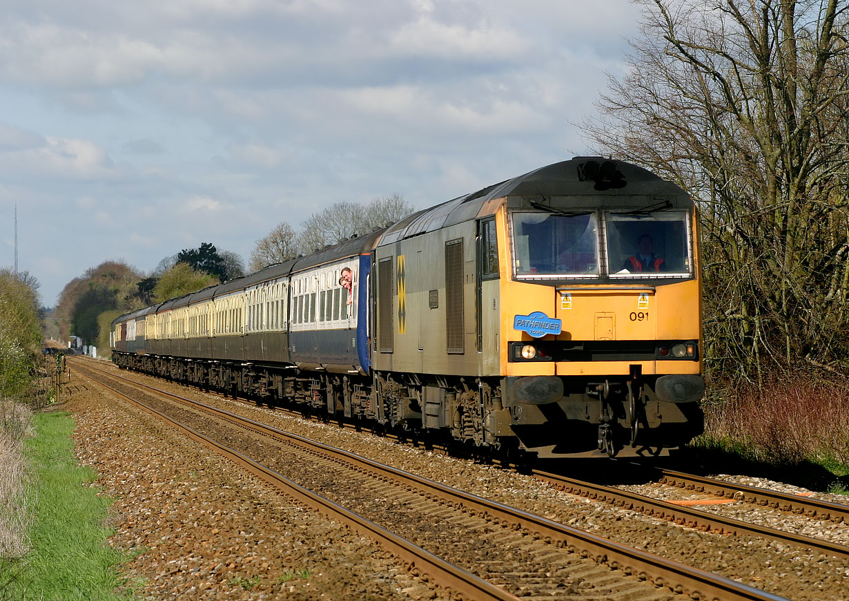
{"label": "right-hand rusty rail of the empty track beside the train", "polygon": [[520,530],[537,539],[547,541],[556,547],[566,548],[579,553],[582,557],[593,558],[597,563],[607,564],[611,569],[623,570],[626,574],[638,575],[638,577],[644,580],[653,582],[657,587],[666,587],[673,592],[687,594],[694,599],[711,599],[711,601],[727,601],[728,599],[737,599],[740,601],[786,601],[783,597],[755,587],[749,587],[724,576],[699,570],[673,561],[672,559],[663,558],[633,547],[627,547],[627,545],[610,541],[610,539],[603,536],[596,536],[565,524],[559,524],[534,513],[528,513],[463,490],[454,489],[413,473],[391,468],[383,463],[374,462],[348,451],[323,445],[322,443],[306,439],[297,434],[273,428],[267,424],[239,416],[231,411],[206,405],[198,400],[188,399],[179,394],[159,390],[147,384],[132,382],[125,377],[114,374],[106,375],[123,379],[133,385],[155,390],[158,394],[165,394],[166,396],[188,402],[191,405],[200,406],[221,416],[238,419],[250,424],[254,428],[263,428],[277,436],[284,437],[285,439],[293,439],[301,445],[312,447],[320,452],[341,456],[357,464],[365,464],[374,472],[380,473],[386,479],[395,481],[398,485],[408,489],[411,485],[418,486],[420,490],[423,490],[422,494],[424,496],[429,498],[433,496],[441,497],[446,500],[449,506],[462,509],[469,513],[469,515],[487,519],[501,525],[512,524],[515,530]]}

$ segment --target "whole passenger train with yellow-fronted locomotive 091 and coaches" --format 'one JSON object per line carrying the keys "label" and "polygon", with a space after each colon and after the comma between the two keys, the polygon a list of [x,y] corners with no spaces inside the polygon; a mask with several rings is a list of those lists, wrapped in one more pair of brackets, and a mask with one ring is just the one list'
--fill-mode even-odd
{"label": "whole passenger train with yellow-fronted locomotive 091 and coaches", "polygon": [[113,322],[118,366],[539,457],[703,428],[697,217],[576,157]]}

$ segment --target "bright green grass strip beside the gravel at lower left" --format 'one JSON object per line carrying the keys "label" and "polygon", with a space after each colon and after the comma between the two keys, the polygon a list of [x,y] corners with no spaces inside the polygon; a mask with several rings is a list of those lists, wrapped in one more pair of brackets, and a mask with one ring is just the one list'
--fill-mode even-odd
{"label": "bright green grass strip beside the gravel at lower left", "polygon": [[[36,435],[26,442],[32,471],[30,495],[35,519],[29,531],[31,551],[0,566],[0,598],[45,601],[119,599],[115,571],[119,551],[106,545],[105,525],[111,500],[89,486],[93,470],[72,453],[73,418],[65,412],[33,417]],[[3,587],[5,585],[5,587]]]}

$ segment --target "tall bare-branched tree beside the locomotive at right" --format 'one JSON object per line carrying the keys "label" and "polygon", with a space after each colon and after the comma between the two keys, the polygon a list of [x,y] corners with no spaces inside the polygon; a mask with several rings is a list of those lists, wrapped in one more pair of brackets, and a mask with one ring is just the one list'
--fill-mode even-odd
{"label": "tall bare-branched tree beside the locomotive at right", "polygon": [[638,0],[583,131],[699,203],[712,367],[849,367],[849,28],[837,0]]}

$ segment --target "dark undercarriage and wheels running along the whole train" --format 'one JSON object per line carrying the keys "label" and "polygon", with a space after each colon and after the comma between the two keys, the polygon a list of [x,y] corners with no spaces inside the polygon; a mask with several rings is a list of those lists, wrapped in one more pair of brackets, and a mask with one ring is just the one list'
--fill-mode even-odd
{"label": "dark undercarriage and wheels running along the whole train", "polygon": [[700,434],[698,403],[657,398],[653,378],[569,378],[560,400],[535,405],[505,397],[507,378],[304,371],[116,352],[116,365],[263,405],[368,421],[406,436],[429,434],[492,451],[539,457],[658,456]]}

